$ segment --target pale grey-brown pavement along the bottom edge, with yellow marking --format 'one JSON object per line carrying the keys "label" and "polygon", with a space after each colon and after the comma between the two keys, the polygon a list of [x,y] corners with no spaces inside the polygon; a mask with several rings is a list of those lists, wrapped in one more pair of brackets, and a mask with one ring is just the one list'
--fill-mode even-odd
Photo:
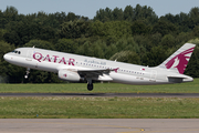
{"label": "pale grey-brown pavement along the bottom edge, with yellow marking", "polygon": [[1,119],[0,133],[198,133],[198,119]]}

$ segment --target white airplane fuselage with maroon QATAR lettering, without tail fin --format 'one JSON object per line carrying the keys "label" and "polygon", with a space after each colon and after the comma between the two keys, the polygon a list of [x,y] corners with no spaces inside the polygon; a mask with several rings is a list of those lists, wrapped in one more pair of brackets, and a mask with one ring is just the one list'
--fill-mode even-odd
{"label": "white airplane fuselage with maroon QATAR lettering, without tail fin", "polygon": [[182,82],[193,79],[176,73],[172,70],[161,68],[148,68],[129,63],[96,59],[51,50],[36,48],[19,48],[17,52],[4,54],[4,59],[15,65],[43,70],[57,73],[60,70],[86,71],[94,73],[97,70],[113,70],[102,76],[92,78],[92,80],[113,81],[127,84],[165,84],[171,82],[168,76],[182,78]]}

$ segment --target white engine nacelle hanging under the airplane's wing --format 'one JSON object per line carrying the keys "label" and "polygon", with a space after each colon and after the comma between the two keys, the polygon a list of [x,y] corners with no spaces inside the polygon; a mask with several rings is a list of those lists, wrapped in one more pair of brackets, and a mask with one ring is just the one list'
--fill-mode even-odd
{"label": "white engine nacelle hanging under the airplane's wing", "polygon": [[60,70],[57,75],[61,80],[66,80],[72,82],[78,82],[81,80],[81,76],[77,72],[72,72],[67,70]]}

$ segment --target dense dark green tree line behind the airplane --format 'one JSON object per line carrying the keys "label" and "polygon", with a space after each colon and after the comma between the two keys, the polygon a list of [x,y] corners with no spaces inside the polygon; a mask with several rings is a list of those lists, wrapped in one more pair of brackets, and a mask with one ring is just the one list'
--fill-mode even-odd
{"label": "dense dark green tree line behind the airplane", "polygon": [[184,43],[197,44],[186,74],[199,76],[199,8],[189,13],[157,17],[137,4],[100,9],[93,19],[73,12],[19,14],[14,7],[0,10],[0,82],[62,82],[56,74],[25,69],[3,60],[15,48],[33,47],[127,63],[155,66]]}

